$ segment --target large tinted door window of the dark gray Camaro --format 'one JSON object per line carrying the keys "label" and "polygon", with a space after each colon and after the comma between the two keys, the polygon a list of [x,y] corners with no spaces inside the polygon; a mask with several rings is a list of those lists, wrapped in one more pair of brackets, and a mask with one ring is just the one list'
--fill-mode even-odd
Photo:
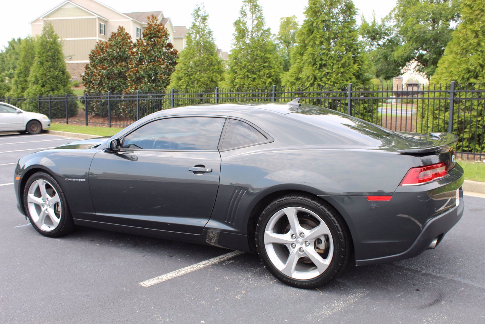
{"label": "large tinted door window of the dark gray Camaro", "polygon": [[122,149],[217,150],[225,120],[212,117],[155,120],[126,136]]}

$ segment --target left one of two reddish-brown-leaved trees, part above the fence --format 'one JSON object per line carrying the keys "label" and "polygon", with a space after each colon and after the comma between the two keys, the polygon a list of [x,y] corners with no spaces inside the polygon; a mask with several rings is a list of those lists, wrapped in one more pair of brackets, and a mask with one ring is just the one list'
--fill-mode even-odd
{"label": "left one of two reddish-brown-leaved trees, part above the fence", "polygon": [[123,26],[118,26],[108,40],[98,41],[89,53],[82,83],[86,92],[122,92],[128,87],[130,53],[133,50],[131,36]]}

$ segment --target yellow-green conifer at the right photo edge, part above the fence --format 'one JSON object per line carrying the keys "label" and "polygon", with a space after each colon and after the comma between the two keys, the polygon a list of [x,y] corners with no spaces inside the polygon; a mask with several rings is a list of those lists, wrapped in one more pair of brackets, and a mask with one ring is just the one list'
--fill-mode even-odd
{"label": "yellow-green conifer at the right photo edge, part above the fence", "polygon": [[433,83],[485,82],[485,0],[461,0],[461,23],[438,62]]}

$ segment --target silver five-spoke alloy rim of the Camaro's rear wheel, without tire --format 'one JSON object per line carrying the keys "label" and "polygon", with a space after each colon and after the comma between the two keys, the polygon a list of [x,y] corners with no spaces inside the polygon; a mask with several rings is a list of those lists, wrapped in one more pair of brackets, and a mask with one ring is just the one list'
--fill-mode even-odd
{"label": "silver five-spoke alloy rim of the Camaro's rear wheel, without tire", "polygon": [[[299,216],[300,219],[311,217],[319,224],[310,229],[304,228]],[[290,223],[290,229],[281,233],[282,222],[286,221]],[[321,252],[323,246],[324,253]],[[307,280],[327,270],[332,261],[334,244],[328,226],[317,214],[294,206],[283,208],[270,218],[264,230],[264,248],[271,263],[281,273],[293,279]],[[302,257],[309,260],[302,262]]]}

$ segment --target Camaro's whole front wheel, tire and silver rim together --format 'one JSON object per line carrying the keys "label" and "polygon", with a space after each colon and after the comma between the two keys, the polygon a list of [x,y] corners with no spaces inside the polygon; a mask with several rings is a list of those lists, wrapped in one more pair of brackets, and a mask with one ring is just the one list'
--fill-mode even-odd
{"label": "Camaro's whole front wheel, tire and silver rim together", "polygon": [[59,237],[74,230],[64,192],[48,173],[38,172],[27,180],[24,209],[32,226],[47,237]]}

